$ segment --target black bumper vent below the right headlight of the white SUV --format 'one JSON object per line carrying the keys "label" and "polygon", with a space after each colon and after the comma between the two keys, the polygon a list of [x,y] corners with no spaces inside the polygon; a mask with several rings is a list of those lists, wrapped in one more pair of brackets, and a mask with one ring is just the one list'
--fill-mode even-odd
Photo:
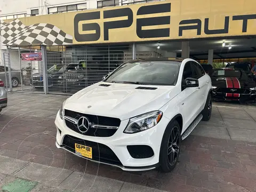
{"label": "black bumper vent below the right headlight of the white SUV", "polygon": [[146,145],[127,146],[127,149],[133,158],[149,158],[154,155],[153,149]]}

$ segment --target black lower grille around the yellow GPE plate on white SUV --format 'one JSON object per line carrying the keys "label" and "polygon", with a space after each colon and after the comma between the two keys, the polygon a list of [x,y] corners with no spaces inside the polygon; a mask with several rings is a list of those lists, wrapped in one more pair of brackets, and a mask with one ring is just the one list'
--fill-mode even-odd
{"label": "black lower grille around the yellow GPE plate on white SUV", "polygon": [[114,165],[122,165],[116,154],[108,146],[101,143],[87,141],[73,137],[71,135],[65,135],[62,145],[73,153],[75,153],[75,143],[85,145],[92,148],[92,159],[94,161],[109,163]]}

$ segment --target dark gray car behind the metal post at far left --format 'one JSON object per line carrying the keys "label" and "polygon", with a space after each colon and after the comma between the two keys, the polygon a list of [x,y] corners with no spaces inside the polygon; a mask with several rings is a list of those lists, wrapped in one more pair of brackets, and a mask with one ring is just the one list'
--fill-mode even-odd
{"label": "dark gray car behind the metal post at far left", "polygon": [[[5,67],[6,69],[6,78],[7,78],[7,83],[6,83],[6,78],[5,78],[5,70],[4,66],[0,66],[0,79],[4,82],[5,85],[9,86],[9,68]],[[20,84],[20,71],[19,70],[14,70],[11,69],[11,77],[12,77],[12,87],[17,87]]]}

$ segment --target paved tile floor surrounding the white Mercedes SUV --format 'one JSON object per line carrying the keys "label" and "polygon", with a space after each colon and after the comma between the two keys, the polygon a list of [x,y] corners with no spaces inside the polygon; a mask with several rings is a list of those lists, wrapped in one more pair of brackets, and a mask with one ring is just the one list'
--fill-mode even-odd
{"label": "paved tile floor surrounding the white Mercedes SUV", "polygon": [[[9,94],[9,107],[0,115],[0,155],[67,169],[73,176],[87,173],[115,179],[127,186],[130,182],[166,191],[256,191],[256,107],[214,103],[211,120],[201,122],[182,142],[173,172],[124,172],[55,147],[54,118],[65,98]],[[33,170],[27,167],[25,171]],[[61,185],[72,182],[67,177]]]}

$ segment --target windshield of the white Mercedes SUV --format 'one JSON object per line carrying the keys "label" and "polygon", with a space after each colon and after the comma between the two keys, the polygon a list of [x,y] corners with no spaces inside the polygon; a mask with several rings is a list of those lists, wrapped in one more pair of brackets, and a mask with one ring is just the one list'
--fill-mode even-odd
{"label": "windshield of the white Mercedes SUV", "polygon": [[146,85],[175,85],[179,74],[178,61],[127,62],[106,78],[106,82]]}

